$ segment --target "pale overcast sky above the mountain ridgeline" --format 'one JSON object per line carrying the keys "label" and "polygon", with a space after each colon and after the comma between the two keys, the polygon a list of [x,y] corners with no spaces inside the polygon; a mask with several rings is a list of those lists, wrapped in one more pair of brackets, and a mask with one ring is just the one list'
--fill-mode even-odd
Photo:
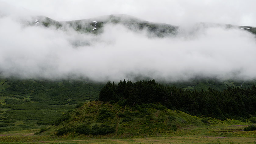
{"label": "pale overcast sky above the mountain ridgeline", "polygon": [[[256,26],[255,0],[0,0],[13,13],[44,15],[52,19],[88,19],[128,14],[152,22],[184,25],[213,22]],[[1,7],[1,6],[0,6]],[[3,8],[4,7],[4,8]],[[16,10],[13,8],[15,7]]]}

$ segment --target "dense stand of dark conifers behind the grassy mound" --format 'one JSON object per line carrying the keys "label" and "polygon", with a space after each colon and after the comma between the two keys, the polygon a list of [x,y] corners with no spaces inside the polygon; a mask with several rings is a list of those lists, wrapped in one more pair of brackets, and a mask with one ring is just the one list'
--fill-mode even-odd
{"label": "dense stand of dark conifers behind the grassy mound", "polygon": [[120,105],[160,103],[166,108],[180,110],[191,115],[208,116],[226,120],[244,119],[256,115],[256,87],[239,87],[222,91],[184,90],[164,86],[155,80],[108,82],[99,93],[100,101],[118,102]]}

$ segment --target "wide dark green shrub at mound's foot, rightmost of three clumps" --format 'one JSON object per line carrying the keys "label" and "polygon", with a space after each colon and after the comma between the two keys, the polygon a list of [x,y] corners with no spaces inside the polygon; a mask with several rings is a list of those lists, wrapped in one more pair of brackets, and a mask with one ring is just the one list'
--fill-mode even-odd
{"label": "wide dark green shrub at mound's foot, rightmost of three clumps", "polygon": [[109,133],[114,133],[116,130],[114,127],[110,127],[109,125],[94,125],[91,128],[92,135],[105,135]]}

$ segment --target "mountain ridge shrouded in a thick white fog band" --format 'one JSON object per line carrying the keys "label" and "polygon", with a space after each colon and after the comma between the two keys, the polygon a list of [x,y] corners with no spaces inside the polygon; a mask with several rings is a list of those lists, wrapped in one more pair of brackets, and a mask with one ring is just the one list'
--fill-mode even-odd
{"label": "mountain ridge shrouded in a thick white fog band", "polygon": [[[98,18],[2,17],[1,76],[94,81],[256,76],[251,29],[207,23],[184,29],[127,15]],[[95,21],[97,30],[91,31]]]}

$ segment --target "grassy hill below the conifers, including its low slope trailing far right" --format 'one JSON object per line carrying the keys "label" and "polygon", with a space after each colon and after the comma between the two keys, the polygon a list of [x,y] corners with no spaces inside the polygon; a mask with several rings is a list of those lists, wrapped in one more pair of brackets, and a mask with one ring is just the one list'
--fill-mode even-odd
{"label": "grassy hill below the conifers, including its low slope trailing far right", "polygon": [[[228,119],[191,116],[173,111],[161,104],[142,104],[122,107],[118,103],[87,102],[55,121],[55,125],[41,130],[39,135],[59,135],[63,138],[128,138],[165,135],[207,134],[207,127],[218,127],[211,135],[223,135],[222,128],[230,125],[248,125]],[[204,129],[204,130],[203,130]],[[230,130],[230,132],[233,131]],[[190,133],[191,134],[191,133]],[[230,133],[227,133],[230,135]]]}

